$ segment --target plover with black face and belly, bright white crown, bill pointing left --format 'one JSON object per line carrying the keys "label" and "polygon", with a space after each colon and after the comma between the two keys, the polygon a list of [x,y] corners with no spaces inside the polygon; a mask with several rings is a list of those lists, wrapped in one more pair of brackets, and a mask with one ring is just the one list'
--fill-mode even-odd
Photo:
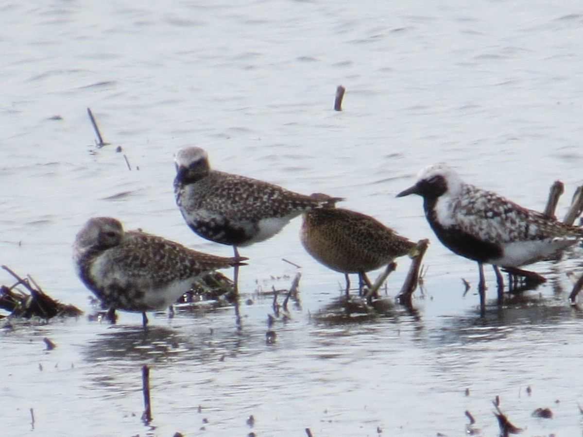
{"label": "plover with black face and belly, bright white crown, bill pointing left", "polygon": [[445,164],[424,168],[416,184],[397,197],[409,194],[423,197],[427,221],[448,249],[477,261],[482,313],[486,290],[483,263],[495,266],[495,270],[496,266],[512,270],[553,258],[583,237],[581,228],[466,184]]}

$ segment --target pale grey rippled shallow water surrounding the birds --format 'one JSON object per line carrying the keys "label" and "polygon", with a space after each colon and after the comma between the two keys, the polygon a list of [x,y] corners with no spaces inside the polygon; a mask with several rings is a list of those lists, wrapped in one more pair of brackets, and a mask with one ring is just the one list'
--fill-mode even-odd
{"label": "pale grey rippled shallow water surrounding the birds", "polygon": [[[582,434],[583,321],[564,274],[581,272],[580,251],[533,266],[549,281],[503,308],[492,301],[483,320],[475,288],[463,296],[475,264],[434,238],[421,199],[394,198],[424,165],[447,161],[538,210],[561,179],[566,212],[583,164],[583,16],[571,2],[55,1],[0,11],[0,261],[53,297],[91,311],[71,262],[91,216],[230,255],[192,234],[174,205],[173,154],[191,144],[216,168],[345,196],[344,207],[431,239],[414,313],[343,315],[342,275],[304,252],[294,220],[241,252],[252,300],[241,332],[231,308],[150,317],[147,332],[128,313],[117,326],[85,316],[6,325],[3,435],[461,435],[468,410],[475,435],[494,436],[497,395],[525,435]],[[345,110],[335,112],[340,83]],[[94,145],[87,107],[110,146]],[[268,327],[263,292],[297,272],[282,258],[302,266],[301,302]],[[408,265],[389,276],[388,302]],[[493,298],[491,270],[487,279]],[[2,270],[0,283],[12,277]],[[44,337],[57,347],[45,350]],[[143,364],[150,426],[140,420]],[[538,407],[554,418],[532,418]]]}

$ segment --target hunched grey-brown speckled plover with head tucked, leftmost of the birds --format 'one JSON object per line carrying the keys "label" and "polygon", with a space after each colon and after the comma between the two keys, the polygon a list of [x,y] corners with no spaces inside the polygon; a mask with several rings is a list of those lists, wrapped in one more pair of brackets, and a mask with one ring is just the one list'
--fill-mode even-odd
{"label": "hunched grey-brown speckled plover with head tucked, leftmost of the birds", "polygon": [[104,308],[141,312],[144,326],[146,311],[167,308],[198,277],[244,259],[193,251],[142,231],[124,231],[111,217],[90,218],[73,245],[77,273]]}

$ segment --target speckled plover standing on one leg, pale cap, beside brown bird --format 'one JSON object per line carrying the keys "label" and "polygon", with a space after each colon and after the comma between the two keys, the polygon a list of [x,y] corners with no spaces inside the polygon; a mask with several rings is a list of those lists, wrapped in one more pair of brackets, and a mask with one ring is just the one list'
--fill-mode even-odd
{"label": "speckled plover standing on one leg, pale cap, beside brown bird", "polygon": [[[211,170],[206,151],[187,147],[176,158],[174,193],[182,217],[203,238],[247,246],[273,237],[306,210],[333,205],[342,198],[307,196],[241,175]],[[237,287],[238,267],[234,283]]]}

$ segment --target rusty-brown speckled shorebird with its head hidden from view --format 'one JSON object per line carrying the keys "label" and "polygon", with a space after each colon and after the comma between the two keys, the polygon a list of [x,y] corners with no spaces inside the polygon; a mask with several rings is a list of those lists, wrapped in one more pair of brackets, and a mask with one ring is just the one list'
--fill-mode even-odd
{"label": "rusty-brown speckled shorebird with its head hidden from view", "polygon": [[371,286],[366,272],[387,266],[399,256],[413,256],[416,247],[371,216],[332,207],[305,212],[300,238],[305,250],[318,262],[345,274],[347,296],[349,273],[359,275],[362,291],[364,284]]}

